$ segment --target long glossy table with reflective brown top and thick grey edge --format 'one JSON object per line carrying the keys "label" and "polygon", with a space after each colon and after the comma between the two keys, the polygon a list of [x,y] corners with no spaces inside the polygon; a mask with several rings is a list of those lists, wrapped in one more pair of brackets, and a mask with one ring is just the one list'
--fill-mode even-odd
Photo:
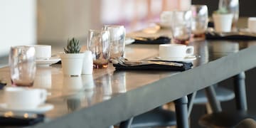
{"label": "long glossy table with reflective brown top and thick grey edge", "polygon": [[[194,41],[197,59],[183,72],[97,69],[92,75],[63,76],[61,65],[38,67],[34,87],[46,88],[46,121],[31,127],[109,127],[178,100],[192,92],[256,66],[254,41]],[[132,60],[158,55],[159,45],[126,46]],[[218,51],[221,49],[222,51]],[[9,68],[0,69],[1,80],[11,85]],[[3,92],[0,92],[2,97]],[[2,99],[2,98],[0,98]]]}

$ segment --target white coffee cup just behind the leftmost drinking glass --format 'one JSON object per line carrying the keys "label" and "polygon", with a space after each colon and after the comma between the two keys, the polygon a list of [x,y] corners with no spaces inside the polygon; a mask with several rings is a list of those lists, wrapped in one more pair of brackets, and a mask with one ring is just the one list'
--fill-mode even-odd
{"label": "white coffee cup just behind the leftmost drinking glass", "polygon": [[34,45],[36,50],[36,59],[45,60],[51,57],[51,46],[49,45]]}

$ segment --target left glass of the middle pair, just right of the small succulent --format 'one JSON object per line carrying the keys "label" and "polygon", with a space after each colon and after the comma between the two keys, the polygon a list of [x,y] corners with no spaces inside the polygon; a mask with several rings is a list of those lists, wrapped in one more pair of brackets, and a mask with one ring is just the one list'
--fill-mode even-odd
{"label": "left glass of the middle pair, just right of the small succulent", "polygon": [[90,30],[87,49],[92,51],[93,68],[107,68],[110,61],[110,32]]}

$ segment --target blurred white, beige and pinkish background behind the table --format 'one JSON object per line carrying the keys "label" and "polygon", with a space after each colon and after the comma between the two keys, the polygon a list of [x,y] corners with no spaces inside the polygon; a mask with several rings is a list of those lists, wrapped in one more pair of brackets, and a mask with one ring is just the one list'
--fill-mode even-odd
{"label": "blurred white, beige and pinkish background behind the table", "polygon": [[[218,1],[206,0],[1,0],[0,57],[10,46],[65,44],[68,38],[86,43],[89,29],[119,24],[127,32],[152,26],[162,11],[188,9],[190,4],[208,5],[209,16]],[[240,1],[240,16],[255,16],[256,1]]]}

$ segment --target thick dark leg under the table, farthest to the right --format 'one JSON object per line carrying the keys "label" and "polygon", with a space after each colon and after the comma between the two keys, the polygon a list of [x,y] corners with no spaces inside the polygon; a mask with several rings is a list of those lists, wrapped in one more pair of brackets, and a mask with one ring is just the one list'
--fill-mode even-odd
{"label": "thick dark leg under the table, farthest to the right", "polygon": [[247,110],[245,72],[235,75],[235,102],[238,110]]}

